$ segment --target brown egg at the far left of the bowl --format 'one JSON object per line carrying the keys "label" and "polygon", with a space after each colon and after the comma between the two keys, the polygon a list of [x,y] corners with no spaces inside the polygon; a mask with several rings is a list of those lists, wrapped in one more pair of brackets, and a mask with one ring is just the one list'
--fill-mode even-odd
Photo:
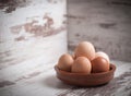
{"label": "brown egg at the far left of the bowl", "polygon": [[58,68],[63,71],[71,71],[71,65],[73,64],[74,60],[72,56],[69,53],[64,53],[60,57],[58,61]]}

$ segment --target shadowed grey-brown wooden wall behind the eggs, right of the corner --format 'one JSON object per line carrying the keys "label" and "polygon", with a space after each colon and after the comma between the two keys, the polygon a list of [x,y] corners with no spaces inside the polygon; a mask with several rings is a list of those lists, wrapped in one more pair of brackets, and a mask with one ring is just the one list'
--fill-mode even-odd
{"label": "shadowed grey-brown wooden wall behind the eggs, right of the corner", "polygon": [[69,49],[81,40],[111,59],[131,61],[130,0],[68,0]]}

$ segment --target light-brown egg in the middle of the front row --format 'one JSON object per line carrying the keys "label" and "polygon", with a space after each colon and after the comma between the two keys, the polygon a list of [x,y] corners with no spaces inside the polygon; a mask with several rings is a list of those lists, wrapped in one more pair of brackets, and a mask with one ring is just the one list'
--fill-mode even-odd
{"label": "light-brown egg in the middle of the front row", "polygon": [[87,73],[92,70],[91,61],[85,57],[79,57],[74,60],[74,64],[71,68],[73,73]]}

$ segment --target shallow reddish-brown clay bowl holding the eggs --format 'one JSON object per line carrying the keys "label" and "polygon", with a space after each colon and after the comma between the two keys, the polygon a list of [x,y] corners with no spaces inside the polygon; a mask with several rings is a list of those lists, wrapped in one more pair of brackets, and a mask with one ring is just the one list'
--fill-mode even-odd
{"label": "shallow reddish-brown clay bowl holding the eggs", "polygon": [[75,86],[98,86],[107,84],[110,80],[114,79],[114,73],[116,71],[116,65],[110,64],[110,70],[103,73],[71,73],[58,69],[55,65],[57,77],[62,82],[75,85]]}

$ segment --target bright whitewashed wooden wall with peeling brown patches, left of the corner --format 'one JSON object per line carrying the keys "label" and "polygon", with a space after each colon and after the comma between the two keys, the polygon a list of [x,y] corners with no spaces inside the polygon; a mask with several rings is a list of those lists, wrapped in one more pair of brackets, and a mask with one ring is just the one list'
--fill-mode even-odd
{"label": "bright whitewashed wooden wall with peeling brown patches, left of the corner", "polygon": [[0,70],[44,55],[43,63],[57,62],[51,56],[67,51],[66,7],[64,0],[1,0]]}

